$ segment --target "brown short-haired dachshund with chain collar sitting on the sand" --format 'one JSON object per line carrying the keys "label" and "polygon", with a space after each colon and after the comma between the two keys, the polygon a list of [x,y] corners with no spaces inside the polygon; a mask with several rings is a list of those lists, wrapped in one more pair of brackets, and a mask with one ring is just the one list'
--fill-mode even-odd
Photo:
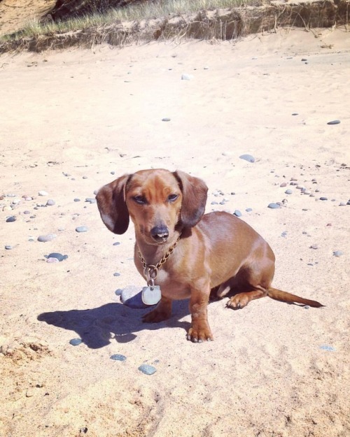
{"label": "brown short-haired dachshund with chain collar sitting on the sand", "polygon": [[148,280],[149,289],[160,286],[160,302],[144,316],[144,322],[166,320],[174,299],[190,298],[188,339],[213,340],[207,304],[214,288],[219,297],[239,289],[228,301],[233,309],[263,296],[323,306],[272,288],[272,249],[235,215],[204,215],[207,190],[198,178],[163,169],[124,175],[99,189],[97,204],[104,224],[115,234],[123,234],[132,218],[134,262]]}

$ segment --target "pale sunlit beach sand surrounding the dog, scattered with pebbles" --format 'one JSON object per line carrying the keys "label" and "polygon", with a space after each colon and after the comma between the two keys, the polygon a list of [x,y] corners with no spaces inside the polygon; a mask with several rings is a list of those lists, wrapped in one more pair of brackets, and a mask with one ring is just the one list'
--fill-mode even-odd
{"label": "pale sunlit beach sand surrounding the dog, scattered with pebbles", "polygon": [[[350,435],[349,43],[297,29],[0,57],[1,436]],[[274,286],[325,308],[225,298],[202,344],[186,301],[143,324],[116,295],[145,285],[133,228],[112,234],[85,199],[158,167],[204,179],[207,211],[240,210],[272,246]]]}

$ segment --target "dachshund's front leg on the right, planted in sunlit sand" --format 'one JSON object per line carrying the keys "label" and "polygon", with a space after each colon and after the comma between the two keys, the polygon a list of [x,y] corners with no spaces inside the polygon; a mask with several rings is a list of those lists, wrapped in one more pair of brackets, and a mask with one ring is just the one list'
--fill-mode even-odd
{"label": "dachshund's front leg on the right, planted in sunlit sand", "polygon": [[208,323],[207,307],[209,301],[210,286],[207,286],[206,292],[197,289],[191,289],[190,297],[190,313],[192,316],[192,324],[188,331],[188,340],[195,343],[202,341],[214,340],[213,334]]}

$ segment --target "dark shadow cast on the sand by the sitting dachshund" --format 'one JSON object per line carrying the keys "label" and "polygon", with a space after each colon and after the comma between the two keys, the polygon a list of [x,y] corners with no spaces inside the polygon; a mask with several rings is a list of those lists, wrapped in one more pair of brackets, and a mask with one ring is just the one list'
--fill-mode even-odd
{"label": "dark shadow cast on the sand by the sitting dachshund", "polygon": [[111,341],[128,343],[137,338],[137,332],[159,329],[160,327],[181,327],[185,332],[190,322],[180,319],[189,314],[188,300],[174,301],[173,315],[165,322],[150,324],[142,322],[142,316],[154,307],[146,310],[132,309],[123,303],[107,303],[99,308],[87,310],[52,311],[38,315],[40,322],[55,327],[75,331],[88,348],[98,349],[109,345]]}

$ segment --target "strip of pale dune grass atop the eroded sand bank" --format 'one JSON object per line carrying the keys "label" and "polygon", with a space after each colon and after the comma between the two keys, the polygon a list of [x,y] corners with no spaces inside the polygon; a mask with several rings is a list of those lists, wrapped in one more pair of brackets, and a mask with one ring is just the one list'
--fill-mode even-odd
{"label": "strip of pale dune grass atop the eroded sand bank", "polygon": [[104,12],[85,14],[58,22],[31,20],[25,27],[10,35],[0,36],[0,41],[13,41],[40,35],[64,34],[72,31],[109,26],[122,21],[151,20],[169,15],[194,13],[198,10],[237,8],[261,4],[260,0],[156,0],[132,3],[122,8],[109,8]]}

